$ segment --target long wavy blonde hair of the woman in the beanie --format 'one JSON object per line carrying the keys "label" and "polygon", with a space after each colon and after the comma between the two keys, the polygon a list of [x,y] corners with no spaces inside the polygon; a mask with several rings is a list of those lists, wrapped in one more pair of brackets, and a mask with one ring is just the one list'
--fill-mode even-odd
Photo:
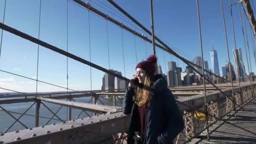
{"label": "long wavy blonde hair of the woman in the beanie", "polygon": [[[147,88],[152,85],[152,80],[148,75],[146,75],[143,85]],[[142,86],[137,86],[135,103],[138,106],[146,106],[149,101],[151,101],[151,99],[152,98],[149,89],[143,88]]]}

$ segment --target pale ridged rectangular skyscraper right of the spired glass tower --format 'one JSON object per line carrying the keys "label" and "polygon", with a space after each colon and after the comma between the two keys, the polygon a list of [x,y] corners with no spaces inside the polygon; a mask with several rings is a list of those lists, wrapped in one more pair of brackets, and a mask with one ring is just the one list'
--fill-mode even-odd
{"label": "pale ridged rectangular skyscraper right of the spired glass tower", "polygon": [[[233,48],[233,55],[234,55],[234,59],[235,59],[235,69],[236,69],[237,79],[238,79],[238,77],[240,79],[245,79],[245,66],[243,64],[241,48]],[[238,70],[239,70],[239,72],[238,72]],[[239,75],[238,75],[238,73],[239,73]]]}

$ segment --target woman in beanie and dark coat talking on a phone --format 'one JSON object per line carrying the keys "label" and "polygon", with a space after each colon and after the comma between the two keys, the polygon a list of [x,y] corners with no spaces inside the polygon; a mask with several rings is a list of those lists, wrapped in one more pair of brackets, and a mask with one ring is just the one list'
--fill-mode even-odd
{"label": "woman in beanie and dark coat talking on a phone", "polygon": [[181,113],[165,78],[155,75],[157,58],[136,66],[125,92],[123,113],[131,114],[128,144],[172,144],[184,128]]}

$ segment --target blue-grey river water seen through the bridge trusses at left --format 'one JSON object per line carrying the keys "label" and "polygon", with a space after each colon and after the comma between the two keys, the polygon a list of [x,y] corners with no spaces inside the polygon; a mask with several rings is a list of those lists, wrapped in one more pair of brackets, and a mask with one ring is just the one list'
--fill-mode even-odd
{"label": "blue-grey river water seen through the bridge trusses at left", "polygon": [[[107,97],[100,98],[100,100],[104,103],[107,104]],[[6,99],[6,98],[5,98]],[[14,99],[14,98],[11,98]],[[74,98],[75,101],[79,101],[79,102],[88,102],[90,101],[91,97],[81,97],[81,98]],[[4,100],[4,99],[0,99],[0,100]],[[66,100],[66,99],[63,99]],[[98,104],[101,104],[100,101],[97,101]],[[6,109],[7,111],[10,112],[19,112],[19,113],[24,113],[34,102],[26,102],[26,103],[16,103],[16,104],[1,104],[1,107],[3,107],[4,109]],[[53,112],[56,112],[59,107],[61,107],[60,105],[57,104],[51,104],[48,102],[43,102],[49,109],[51,109]],[[116,104],[118,107],[121,107],[122,104],[121,102],[117,99]],[[113,105],[112,101],[109,101],[108,105]],[[0,109],[2,110],[2,109]],[[42,118],[42,117],[49,117],[51,118],[53,116],[53,114],[43,106],[43,104],[41,104],[40,106],[40,111],[39,111],[39,125],[45,125],[49,119],[47,118]],[[80,114],[81,110],[80,109],[73,109],[72,108],[72,119],[75,119],[79,114]],[[88,115],[92,115],[92,112],[87,112]],[[21,116],[21,114],[14,114],[11,113],[14,117],[16,117],[17,119]],[[35,117],[34,116],[29,116],[29,115],[35,115],[35,104],[26,112],[27,115],[23,115],[19,120],[21,121],[21,123],[23,123],[24,125],[26,125],[28,128],[34,128],[35,127]],[[81,117],[88,117],[88,115],[83,112],[79,118]],[[67,121],[67,107],[62,107],[59,112],[57,113],[57,116],[61,119],[61,120],[65,120]],[[51,120],[48,124],[52,124],[52,123],[60,123],[60,121],[58,120],[57,117],[53,117],[57,120]],[[11,117],[10,115],[8,115],[6,112],[0,111],[0,133],[3,133],[13,122],[15,122],[15,120],[13,119],[13,117]],[[11,131],[16,131],[16,130],[22,130],[25,129],[24,126],[22,126],[19,122],[16,122],[9,130],[8,132]]]}

